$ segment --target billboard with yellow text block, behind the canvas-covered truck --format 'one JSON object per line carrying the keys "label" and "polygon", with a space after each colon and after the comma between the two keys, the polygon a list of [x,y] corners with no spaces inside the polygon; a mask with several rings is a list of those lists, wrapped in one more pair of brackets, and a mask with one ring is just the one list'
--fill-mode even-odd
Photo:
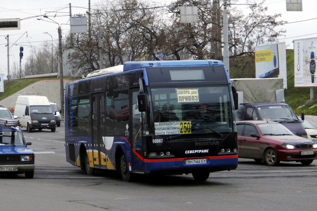
{"label": "billboard with yellow text block, behind the canvas-covered truck", "polygon": [[283,78],[287,89],[285,42],[255,47],[256,78]]}

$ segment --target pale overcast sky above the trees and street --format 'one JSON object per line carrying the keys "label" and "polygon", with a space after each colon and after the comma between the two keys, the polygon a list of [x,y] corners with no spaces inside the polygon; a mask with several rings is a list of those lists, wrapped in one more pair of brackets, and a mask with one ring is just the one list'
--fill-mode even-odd
{"label": "pale overcast sky above the trees and street", "polygon": [[[91,0],[91,7],[93,8],[101,0]],[[220,0],[222,2],[222,0]],[[286,29],[287,33],[285,37],[281,37],[279,42],[285,42],[286,48],[293,49],[293,40],[317,37],[316,28],[316,8],[317,0],[302,0],[303,11],[302,12],[289,12],[286,11],[286,0],[266,0],[265,6],[268,6],[268,15],[275,13],[281,13],[281,20],[289,22],[281,28]],[[172,1],[168,0],[148,0],[149,3],[170,4]],[[246,3],[260,3],[262,0],[239,0],[237,9],[247,12]],[[62,29],[62,34],[69,31],[69,3],[72,6],[72,14],[82,13],[85,14],[88,9],[88,0],[9,0],[2,1],[0,5],[0,19],[6,18],[20,18],[21,29],[20,30],[0,30],[0,72],[7,75],[7,40],[5,39],[9,34],[10,41],[10,69],[15,63],[16,67],[19,67],[19,47],[24,47],[24,58],[27,58],[31,47],[39,46],[43,41],[48,41],[51,44],[57,42],[58,24],[50,23],[42,20],[37,20],[34,16],[40,16],[44,14],[55,15],[53,18],[55,22],[58,22]],[[240,5],[241,4],[241,5]],[[57,12],[52,12],[57,11]],[[52,38],[43,34],[48,32],[52,35]],[[17,44],[17,45],[14,45]]]}

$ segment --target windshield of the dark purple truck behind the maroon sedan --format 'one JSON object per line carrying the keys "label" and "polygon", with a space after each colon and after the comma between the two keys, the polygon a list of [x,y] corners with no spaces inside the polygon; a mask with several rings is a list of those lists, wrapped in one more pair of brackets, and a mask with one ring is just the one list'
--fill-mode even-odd
{"label": "windshield of the dark purple truck behind the maroon sedan", "polygon": [[263,120],[291,119],[299,121],[291,107],[285,105],[261,106],[258,111]]}

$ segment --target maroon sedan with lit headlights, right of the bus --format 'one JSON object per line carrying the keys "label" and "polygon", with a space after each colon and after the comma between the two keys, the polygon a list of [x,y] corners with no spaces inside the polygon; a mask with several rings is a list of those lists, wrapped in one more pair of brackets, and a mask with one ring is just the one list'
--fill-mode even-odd
{"label": "maroon sedan with lit headlights, right of the bus", "polygon": [[317,144],[294,135],[273,121],[238,121],[238,156],[264,161],[275,166],[280,161],[296,161],[309,165],[317,159]]}

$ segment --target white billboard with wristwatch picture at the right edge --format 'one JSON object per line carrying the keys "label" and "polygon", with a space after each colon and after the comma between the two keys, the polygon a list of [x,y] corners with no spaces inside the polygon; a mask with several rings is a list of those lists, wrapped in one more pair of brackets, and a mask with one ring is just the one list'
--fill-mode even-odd
{"label": "white billboard with wristwatch picture at the right edge", "polygon": [[317,87],[316,59],[317,37],[294,40],[295,87]]}

